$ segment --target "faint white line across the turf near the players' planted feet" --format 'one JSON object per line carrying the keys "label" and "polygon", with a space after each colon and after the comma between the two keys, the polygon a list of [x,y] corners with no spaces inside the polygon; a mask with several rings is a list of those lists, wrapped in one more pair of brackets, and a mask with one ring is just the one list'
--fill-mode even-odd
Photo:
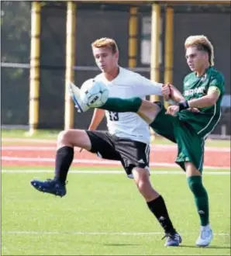
{"label": "faint white line across the turf near the players' planted feet", "polygon": [[[34,234],[34,235],[43,235],[43,234],[72,234],[72,235],[91,235],[91,236],[149,236],[149,235],[159,235],[162,234],[163,232],[83,232],[83,231],[76,231],[76,232],[59,232],[59,231],[2,231],[2,234]],[[182,233],[182,235],[185,235],[189,233]],[[190,233],[191,235],[191,233]],[[230,236],[229,233],[215,233],[215,236]]]}

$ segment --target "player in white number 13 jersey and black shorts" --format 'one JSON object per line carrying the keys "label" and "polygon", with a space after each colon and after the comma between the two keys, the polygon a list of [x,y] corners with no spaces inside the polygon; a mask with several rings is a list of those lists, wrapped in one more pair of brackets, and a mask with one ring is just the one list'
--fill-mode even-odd
{"label": "player in white number 13 jersey and black shorts", "polygon": [[[95,62],[102,71],[96,80],[104,81],[110,97],[143,98],[162,95],[162,84],[119,67],[119,50],[115,40],[101,38],[91,44]],[[106,116],[109,132],[96,131]],[[99,157],[121,161],[126,175],[134,178],[136,186],[156,216],[167,237],[165,246],[178,246],[181,237],[174,229],[163,197],[150,183],[150,131],[148,124],[134,112],[109,112],[95,109],[88,130],[64,130],[57,138],[55,175],[52,180],[33,180],[31,185],[40,192],[64,196],[67,172],[74,158],[74,147],[81,147]]]}

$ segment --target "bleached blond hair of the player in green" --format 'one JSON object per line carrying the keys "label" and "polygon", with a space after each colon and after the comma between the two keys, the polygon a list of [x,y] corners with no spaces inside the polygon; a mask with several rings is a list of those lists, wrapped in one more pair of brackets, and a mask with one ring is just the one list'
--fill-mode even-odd
{"label": "bleached blond hair of the player in green", "polygon": [[212,43],[206,36],[188,36],[188,38],[184,42],[185,50],[188,47],[197,47],[198,50],[203,50],[209,54],[209,64],[214,66],[214,50]]}

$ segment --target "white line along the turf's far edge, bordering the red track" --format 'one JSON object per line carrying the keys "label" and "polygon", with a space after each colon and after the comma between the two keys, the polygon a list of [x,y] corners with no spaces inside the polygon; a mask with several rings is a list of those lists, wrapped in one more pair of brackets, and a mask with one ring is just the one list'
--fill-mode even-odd
{"label": "white line along the turf's far edge, bordering the red track", "polygon": [[[2,173],[53,173],[52,170],[2,170]],[[74,174],[106,174],[106,175],[125,175],[125,171],[69,171]],[[150,171],[152,175],[184,175],[184,171]],[[205,171],[204,175],[230,175],[229,171]]]}

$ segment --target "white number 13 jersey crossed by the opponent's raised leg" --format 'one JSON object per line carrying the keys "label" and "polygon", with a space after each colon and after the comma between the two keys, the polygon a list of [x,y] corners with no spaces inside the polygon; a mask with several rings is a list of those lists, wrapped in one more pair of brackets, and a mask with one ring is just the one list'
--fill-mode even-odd
{"label": "white number 13 jersey crossed by the opponent's raised leg", "polygon": [[[119,67],[118,76],[108,81],[104,74],[98,74],[95,80],[103,81],[109,88],[109,97],[127,99],[147,95],[162,95],[161,85],[157,82],[137,74],[133,71]],[[110,112],[105,111],[109,133],[117,137],[141,141],[150,144],[150,130],[148,124],[135,112]]]}

